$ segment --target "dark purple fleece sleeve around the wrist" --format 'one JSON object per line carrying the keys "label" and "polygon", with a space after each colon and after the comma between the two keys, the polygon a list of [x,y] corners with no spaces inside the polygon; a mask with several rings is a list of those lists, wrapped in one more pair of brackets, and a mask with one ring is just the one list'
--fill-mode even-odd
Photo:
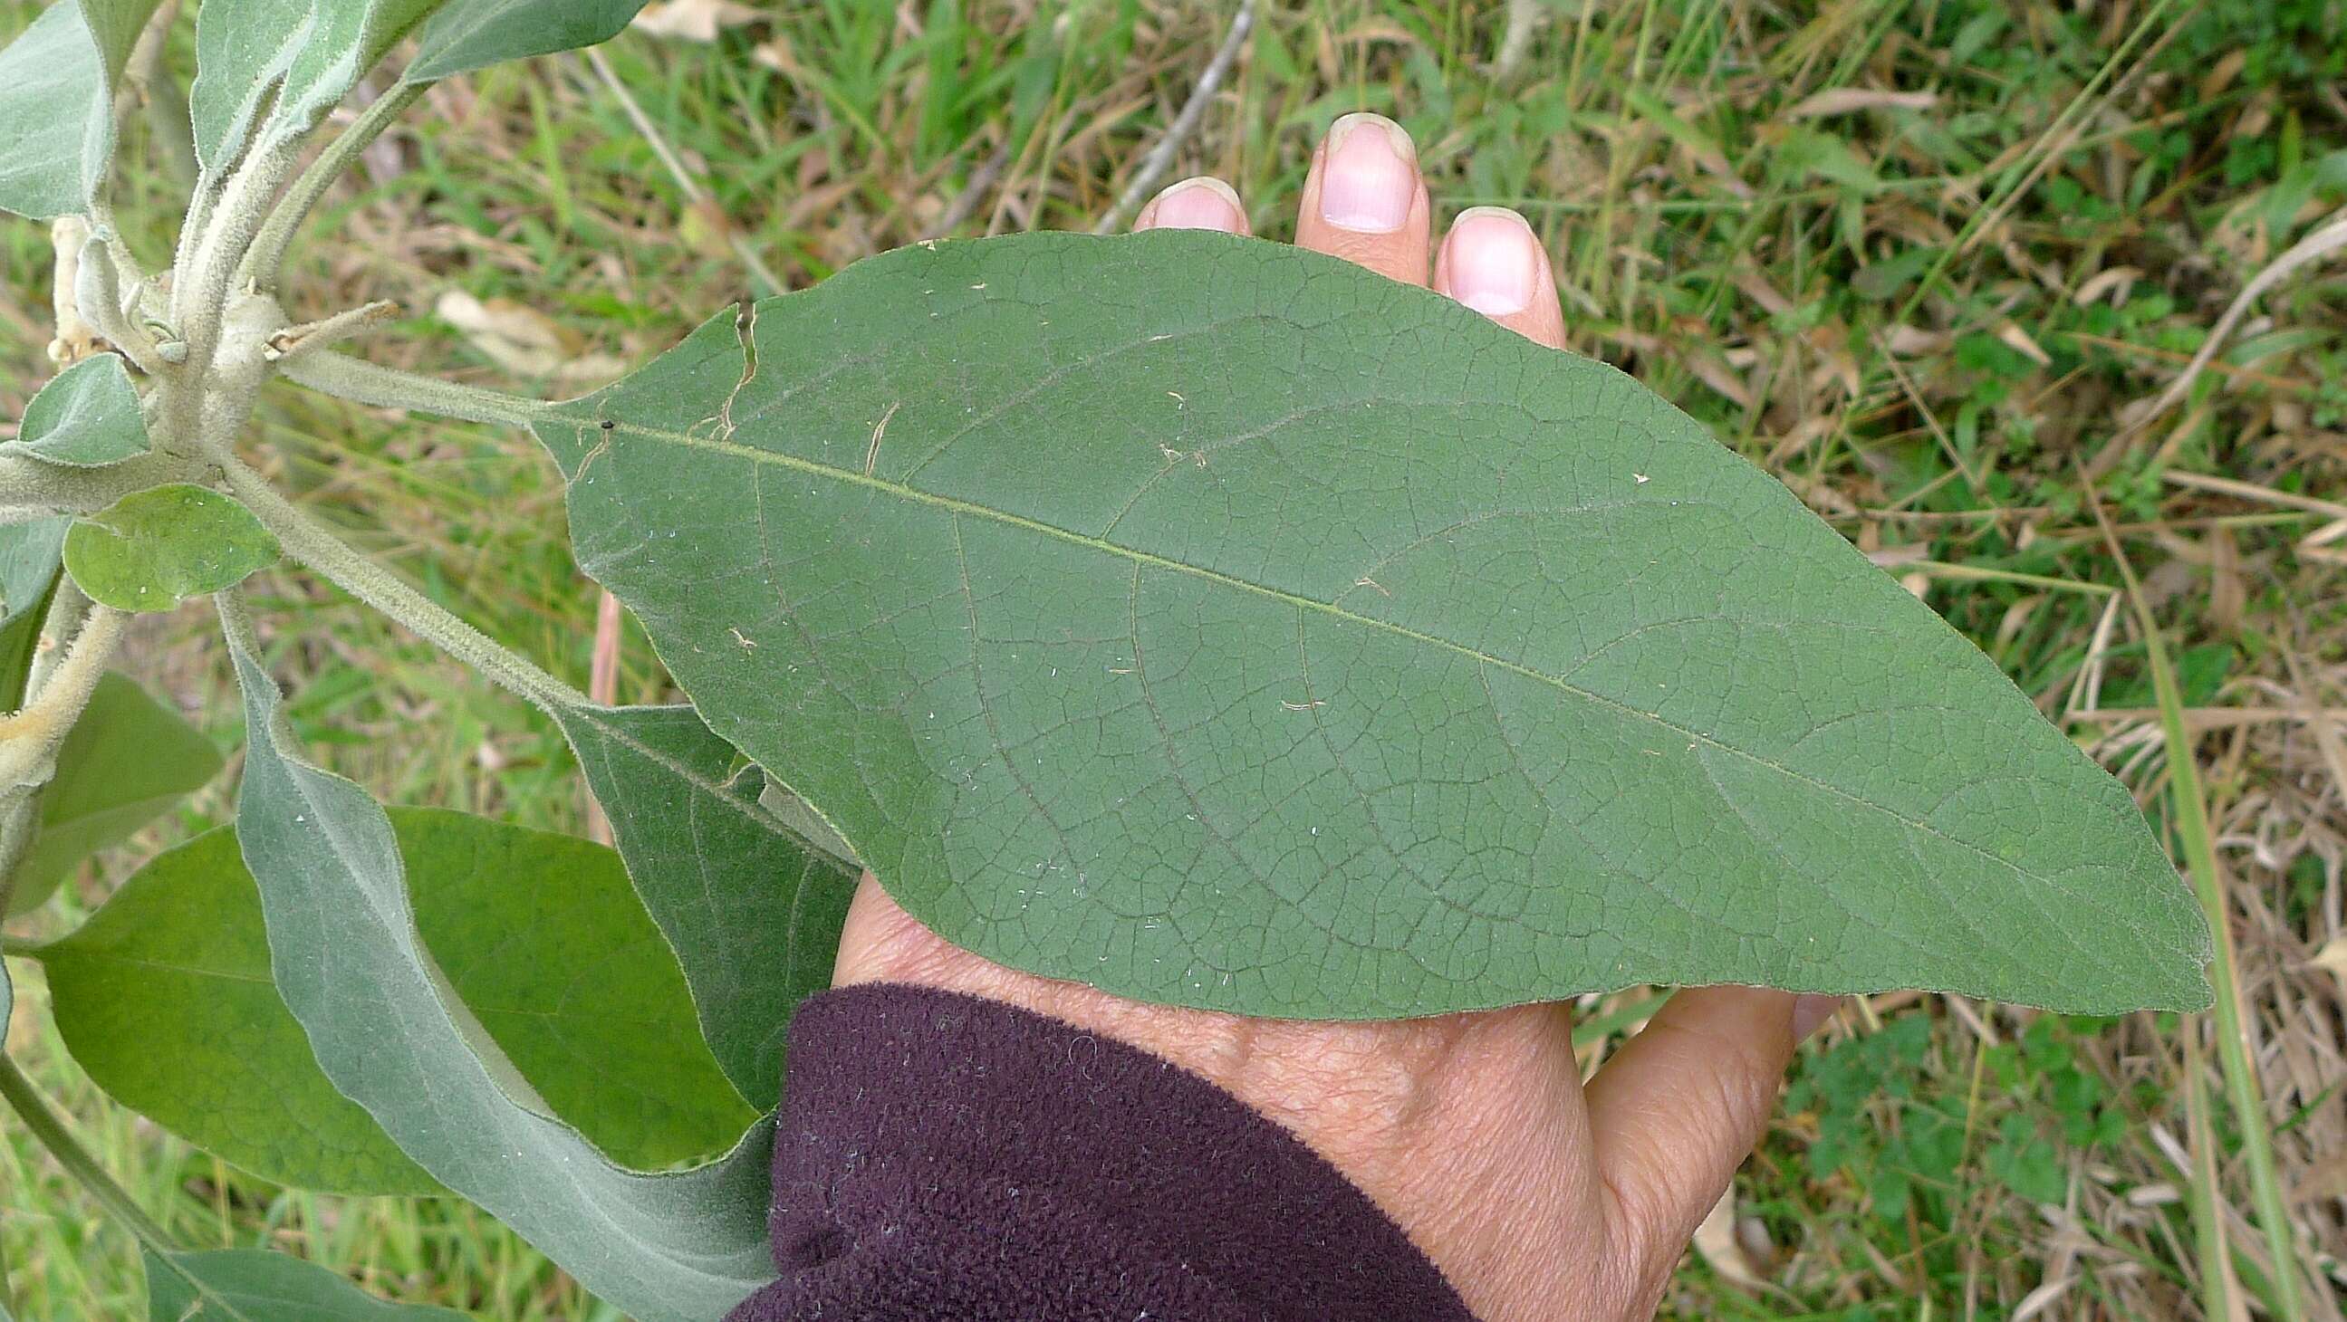
{"label": "dark purple fleece sleeve around the wrist", "polygon": [[732,1322],[1474,1322],[1335,1167],[1211,1082],[1012,1005],[791,1021],[782,1280]]}

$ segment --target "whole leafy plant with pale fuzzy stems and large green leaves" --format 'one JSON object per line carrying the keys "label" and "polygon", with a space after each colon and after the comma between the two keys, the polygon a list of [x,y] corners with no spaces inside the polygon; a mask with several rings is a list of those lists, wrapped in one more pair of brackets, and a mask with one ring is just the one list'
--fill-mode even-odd
{"label": "whole leafy plant with pale fuzzy stems and large green leaves", "polygon": [[[303,218],[425,85],[638,7],[207,0],[162,272],[106,195],[157,7],[59,0],[0,52],[0,207],[54,218],[73,315],[0,446],[0,911],[221,765],[108,672],[131,613],[211,596],[246,714],[235,827],[14,951],[120,1101],[704,1322],[772,1270],[786,1028],[866,864],[1002,963],[1244,1014],[2209,1000],[2133,801],[1988,657],[1631,378],[1427,291],[1195,232],[920,244],[570,402],[340,352],[378,305],[284,312]],[[688,702],[591,702],[312,521],[239,453],[277,378],[530,430]],[[242,587],[279,557],[552,716],[615,855],[307,761]],[[5,1057],[0,1092],[70,1144]],[[92,1193],[157,1317],[441,1315]]]}

